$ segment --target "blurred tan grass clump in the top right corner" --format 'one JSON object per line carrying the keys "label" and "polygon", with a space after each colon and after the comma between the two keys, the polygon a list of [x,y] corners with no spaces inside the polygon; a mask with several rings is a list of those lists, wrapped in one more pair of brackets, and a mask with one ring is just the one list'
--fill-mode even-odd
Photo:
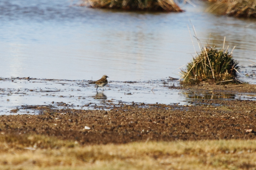
{"label": "blurred tan grass clump in the top right corner", "polygon": [[[210,0],[212,1],[212,0]],[[207,11],[235,17],[256,17],[255,0],[215,0]]]}

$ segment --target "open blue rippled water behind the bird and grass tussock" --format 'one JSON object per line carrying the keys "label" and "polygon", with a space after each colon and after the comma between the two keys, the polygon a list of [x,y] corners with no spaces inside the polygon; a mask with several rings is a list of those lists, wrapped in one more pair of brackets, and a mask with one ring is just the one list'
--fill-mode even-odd
{"label": "open blue rippled water behind the bird and grass tussock", "polygon": [[[222,47],[224,36],[234,57],[256,63],[256,20],[216,16],[207,5],[181,5],[185,12],[128,12],[80,7],[68,0],[0,1],[0,77],[110,81],[179,78],[194,48],[191,23],[202,44]],[[192,34],[193,35],[193,34]],[[196,39],[193,39],[199,51]],[[255,68],[241,76],[255,83]],[[248,77],[244,76],[249,72]],[[252,77],[249,77],[251,76]]]}

